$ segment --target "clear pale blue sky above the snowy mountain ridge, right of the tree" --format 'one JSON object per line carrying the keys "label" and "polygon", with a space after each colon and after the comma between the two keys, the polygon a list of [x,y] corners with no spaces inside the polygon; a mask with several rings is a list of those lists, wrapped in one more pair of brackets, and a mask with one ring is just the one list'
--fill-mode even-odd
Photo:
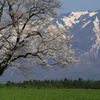
{"label": "clear pale blue sky above the snowy mountain ridge, right of the tree", "polygon": [[100,0],[60,0],[63,4],[61,12],[95,11],[100,9]]}

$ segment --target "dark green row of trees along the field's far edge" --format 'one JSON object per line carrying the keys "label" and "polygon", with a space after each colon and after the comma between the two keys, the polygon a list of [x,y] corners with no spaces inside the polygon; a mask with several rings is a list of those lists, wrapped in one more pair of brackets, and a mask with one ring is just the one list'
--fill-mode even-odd
{"label": "dark green row of trees along the field's far edge", "polygon": [[5,86],[17,87],[34,87],[34,88],[86,88],[86,89],[100,89],[100,81],[92,80],[34,80],[24,81],[23,83],[14,83],[8,81]]}

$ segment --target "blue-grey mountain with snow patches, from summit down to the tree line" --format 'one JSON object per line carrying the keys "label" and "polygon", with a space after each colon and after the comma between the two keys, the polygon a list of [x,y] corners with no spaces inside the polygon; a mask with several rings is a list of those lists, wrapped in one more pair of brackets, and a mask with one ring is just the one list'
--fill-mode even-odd
{"label": "blue-grey mountain with snow patches, from summit down to the tree line", "polygon": [[100,10],[61,14],[52,22],[55,26],[68,30],[68,34],[73,40],[71,48],[75,50],[79,61],[70,65],[68,69],[54,68],[54,70],[44,71],[42,69],[41,71],[40,68],[39,75],[33,75],[34,78],[68,77],[75,79],[82,77],[100,80]]}

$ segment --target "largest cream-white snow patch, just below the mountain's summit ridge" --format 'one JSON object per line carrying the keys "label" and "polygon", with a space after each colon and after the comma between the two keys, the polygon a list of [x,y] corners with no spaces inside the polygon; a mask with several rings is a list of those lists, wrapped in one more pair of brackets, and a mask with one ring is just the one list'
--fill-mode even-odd
{"label": "largest cream-white snow patch, just below the mountain's summit ridge", "polygon": [[98,12],[89,12],[89,11],[84,11],[84,12],[71,12],[68,14],[62,14],[56,19],[56,23],[61,23],[68,27],[72,28],[74,24],[80,23],[80,21],[84,22],[93,16],[98,14]]}

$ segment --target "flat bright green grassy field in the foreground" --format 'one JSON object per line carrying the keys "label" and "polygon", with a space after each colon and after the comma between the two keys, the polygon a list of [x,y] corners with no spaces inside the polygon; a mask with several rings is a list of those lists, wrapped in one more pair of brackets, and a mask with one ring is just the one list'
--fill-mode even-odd
{"label": "flat bright green grassy field in the foreground", "polygon": [[100,100],[100,90],[5,87],[0,100]]}

